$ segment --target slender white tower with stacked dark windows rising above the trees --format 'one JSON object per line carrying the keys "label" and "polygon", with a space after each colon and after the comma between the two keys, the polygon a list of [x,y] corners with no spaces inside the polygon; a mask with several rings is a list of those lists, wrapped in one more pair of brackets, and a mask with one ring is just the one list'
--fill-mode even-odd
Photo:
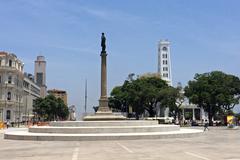
{"label": "slender white tower with stacked dark windows rising above the trees", "polygon": [[158,44],[158,73],[168,85],[172,86],[170,42],[168,40],[161,40]]}

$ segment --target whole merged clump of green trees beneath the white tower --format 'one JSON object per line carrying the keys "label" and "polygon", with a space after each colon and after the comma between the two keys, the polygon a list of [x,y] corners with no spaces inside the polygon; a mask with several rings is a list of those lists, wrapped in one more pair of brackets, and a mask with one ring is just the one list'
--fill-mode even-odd
{"label": "whole merged clump of green trees beneath the white tower", "polygon": [[176,109],[178,90],[167,85],[159,75],[144,75],[133,78],[131,74],[122,86],[113,88],[109,97],[109,106],[121,111],[127,111],[131,106],[138,119],[145,111],[150,117],[156,115],[156,104]]}

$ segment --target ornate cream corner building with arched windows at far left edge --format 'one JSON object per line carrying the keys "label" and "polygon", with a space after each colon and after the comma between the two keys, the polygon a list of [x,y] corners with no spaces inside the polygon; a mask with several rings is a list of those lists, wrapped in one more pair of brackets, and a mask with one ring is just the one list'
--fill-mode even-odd
{"label": "ornate cream corner building with arched windows at far left edge", "polygon": [[21,121],[23,66],[15,54],[0,52],[0,121]]}

